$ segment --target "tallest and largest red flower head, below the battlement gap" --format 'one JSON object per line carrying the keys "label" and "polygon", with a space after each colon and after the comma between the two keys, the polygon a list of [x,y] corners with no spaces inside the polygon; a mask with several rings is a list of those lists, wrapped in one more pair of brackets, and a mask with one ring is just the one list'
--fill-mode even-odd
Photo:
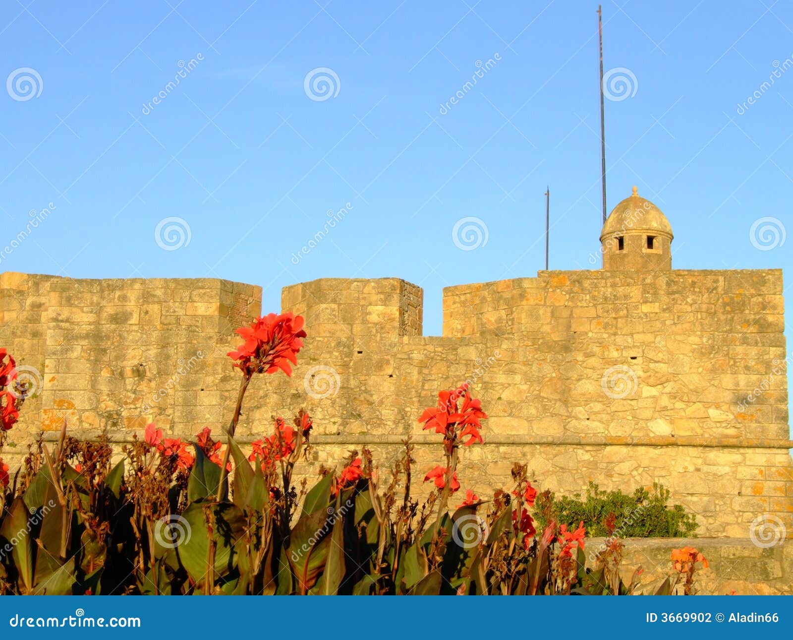
{"label": "tallest and largest red flower head, below the battlement gap", "polygon": [[251,326],[237,330],[245,342],[228,356],[236,360],[235,367],[247,375],[274,373],[281,369],[292,375],[289,363],[297,364],[297,352],[303,346],[303,317],[294,314],[268,314],[257,318]]}

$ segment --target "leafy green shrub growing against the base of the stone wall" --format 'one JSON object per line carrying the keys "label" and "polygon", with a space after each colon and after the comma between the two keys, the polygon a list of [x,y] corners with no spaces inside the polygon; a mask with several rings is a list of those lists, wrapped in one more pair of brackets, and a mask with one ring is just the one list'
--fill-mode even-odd
{"label": "leafy green shrub growing against the base of the stone wall", "polygon": [[611,532],[605,525],[608,515],[614,514],[615,534],[619,538],[691,538],[695,537],[697,522],[679,504],[668,507],[669,491],[653,483],[653,490],[637,488],[633,494],[620,491],[605,492],[590,481],[586,498],[580,493],[573,497],[556,498],[553,492],[543,492],[537,499],[539,529],[550,519],[577,525],[584,521],[588,536],[607,537]]}

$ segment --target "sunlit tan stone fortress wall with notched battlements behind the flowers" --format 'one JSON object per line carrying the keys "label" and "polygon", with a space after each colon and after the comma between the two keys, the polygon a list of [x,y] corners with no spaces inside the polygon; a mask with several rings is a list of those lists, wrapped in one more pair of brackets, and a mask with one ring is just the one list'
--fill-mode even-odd
{"label": "sunlit tan stone fortress wall with notched battlements behind the flowers", "polygon": [[[416,418],[467,380],[490,417],[485,445],[462,453],[463,488],[511,486],[515,461],[565,494],[588,480],[626,491],[657,480],[701,536],[747,538],[750,522],[773,516],[790,537],[782,291],[778,270],[540,272],[446,288],[443,335],[429,337],[422,290],[404,280],[285,287],[282,310],[306,318],[305,348],[293,377],[255,377],[239,439],[305,407],[315,447],[301,472],[362,446],[385,468],[408,435],[419,472],[442,453]],[[220,434],[239,387],[226,352],[260,307],[259,287],[226,280],[3,273],[0,346],[38,384],[4,459],[18,465],[63,419],[71,434],[107,430],[119,443],[148,422]]]}

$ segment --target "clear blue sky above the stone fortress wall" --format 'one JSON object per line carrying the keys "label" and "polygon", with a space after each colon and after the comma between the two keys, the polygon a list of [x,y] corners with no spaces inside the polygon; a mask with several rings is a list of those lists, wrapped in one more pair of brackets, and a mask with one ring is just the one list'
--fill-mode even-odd
{"label": "clear blue sky above the stone fortress wall", "polygon": [[[262,285],[265,310],[290,283],[399,276],[424,288],[438,334],[442,287],[543,267],[546,184],[551,268],[592,268],[595,2],[320,2],[3,2],[0,220],[10,239],[56,208],[0,270],[218,276]],[[793,231],[791,6],[603,11],[605,69],[632,84],[606,102],[609,209],[637,184],[672,222],[677,268],[790,267],[793,239],[760,250],[749,230]],[[489,68],[466,91],[477,60]],[[320,67],[338,83],[310,99]],[[178,250],[155,242],[169,217],[190,227]],[[466,217],[486,245],[452,241]]]}

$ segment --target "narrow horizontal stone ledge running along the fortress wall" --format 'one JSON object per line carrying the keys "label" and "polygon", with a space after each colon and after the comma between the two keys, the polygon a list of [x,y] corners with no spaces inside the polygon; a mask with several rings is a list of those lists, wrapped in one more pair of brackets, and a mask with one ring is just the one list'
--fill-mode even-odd
{"label": "narrow horizontal stone ledge running along the fortress wall", "polygon": [[[72,431],[69,433],[78,440],[95,440],[102,434],[99,430]],[[141,439],[143,434],[139,431],[109,431],[107,437],[110,442],[124,444],[132,442],[132,436],[137,434]],[[192,440],[195,434],[166,434],[168,437]],[[409,434],[349,434],[326,435],[314,434],[311,437],[312,445],[401,445]],[[57,441],[60,434],[56,431],[44,433],[44,441]],[[214,435],[216,441],[226,441],[225,435]],[[249,445],[253,441],[261,440],[262,436],[244,436],[236,438],[239,444]],[[440,438],[435,434],[413,434],[411,443],[414,445],[437,445]],[[630,438],[628,436],[528,436],[528,435],[491,435],[485,438],[485,445],[558,445],[558,446],[646,446],[646,447],[707,447],[715,449],[793,449],[793,441],[782,438],[695,438],[684,436],[672,438],[659,436],[656,438]]]}

